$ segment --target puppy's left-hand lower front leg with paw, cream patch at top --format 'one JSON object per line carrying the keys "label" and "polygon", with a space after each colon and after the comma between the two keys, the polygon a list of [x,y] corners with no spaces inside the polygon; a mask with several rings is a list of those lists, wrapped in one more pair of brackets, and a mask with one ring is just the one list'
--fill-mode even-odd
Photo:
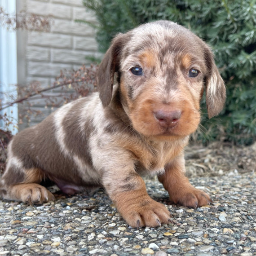
{"label": "puppy's left-hand lower front leg with paw, cream patch at top", "polygon": [[150,198],[143,179],[135,171],[105,172],[104,187],[124,220],[132,227],[169,223],[170,212]]}

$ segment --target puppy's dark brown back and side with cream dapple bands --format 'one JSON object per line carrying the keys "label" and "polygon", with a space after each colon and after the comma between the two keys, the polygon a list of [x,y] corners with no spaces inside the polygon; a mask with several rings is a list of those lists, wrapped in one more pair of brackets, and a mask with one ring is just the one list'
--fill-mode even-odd
{"label": "puppy's dark brown back and side with cream dapple bands", "polygon": [[[95,172],[88,141],[93,132],[94,109],[100,104],[97,93],[93,93],[62,106],[40,124],[19,132],[8,146],[6,170],[17,177],[17,173],[26,176],[27,170],[37,168],[52,180],[57,177],[85,185],[81,173]],[[19,176],[22,182],[23,176]],[[88,184],[91,182],[88,180]]]}

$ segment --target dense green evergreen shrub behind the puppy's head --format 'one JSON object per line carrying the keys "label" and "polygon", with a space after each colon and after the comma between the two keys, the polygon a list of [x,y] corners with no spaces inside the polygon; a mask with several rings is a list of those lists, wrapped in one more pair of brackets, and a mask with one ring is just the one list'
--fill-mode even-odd
{"label": "dense green evergreen shrub behind the puppy's head", "polygon": [[[177,22],[212,46],[227,86],[225,109],[203,114],[198,139],[250,144],[256,141],[256,0],[84,0],[95,12],[99,50],[141,23]],[[205,102],[202,100],[203,112]]]}

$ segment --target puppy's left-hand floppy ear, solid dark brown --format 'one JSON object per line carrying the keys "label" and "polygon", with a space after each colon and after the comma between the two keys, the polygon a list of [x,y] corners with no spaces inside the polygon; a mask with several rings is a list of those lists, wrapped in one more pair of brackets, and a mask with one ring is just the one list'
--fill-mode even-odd
{"label": "puppy's left-hand floppy ear, solid dark brown", "polygon": [[103,107],[110,104],[112,98],[114,75],[119,70],[120,53],[127,37],[119,33],[112,40],[97,71],[96,81]]}

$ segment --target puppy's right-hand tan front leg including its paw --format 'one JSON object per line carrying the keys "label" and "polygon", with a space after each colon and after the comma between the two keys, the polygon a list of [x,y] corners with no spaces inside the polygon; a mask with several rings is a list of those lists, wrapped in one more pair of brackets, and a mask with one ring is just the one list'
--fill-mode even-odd
{"label": "puppy's right-hand tan front leg including its paw", "polygon": [[168,191],[173,203],[196,208],[209,204],[212,200],[202,190],[194,188],[185,177],[184,156],[179,156],[165,166],[165,172],[158,177],[163,187]]}

